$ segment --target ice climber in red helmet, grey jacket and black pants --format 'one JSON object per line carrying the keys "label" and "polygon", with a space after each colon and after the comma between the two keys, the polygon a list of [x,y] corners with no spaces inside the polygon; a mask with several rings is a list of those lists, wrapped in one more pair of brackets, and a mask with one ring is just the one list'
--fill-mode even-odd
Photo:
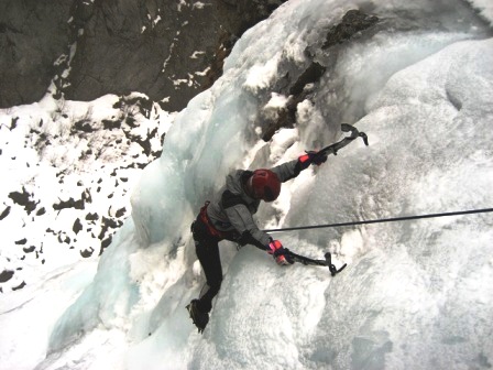
{"label": "ice climber in red helmet, grey jacket and black pants", "polygon": [[283,244],[260,230],[253,215],[260,202],[273,202],[281,193],[281,184],[296,177],[310,164],[326,162],[327,154],[307,152],[297,160],[271,170],[237,170],[226,178],[226,185],[206,202],[197,219],[191,224],[196,253],[204,269],[207,283],[198,300],[187,306],[194,324],[200,333],[209,322],[212,298],[222,282],[222,268],[218,242],[231,240],[241,246],[252,244],[273,255],[277,264],[288,265],[293,261]]}

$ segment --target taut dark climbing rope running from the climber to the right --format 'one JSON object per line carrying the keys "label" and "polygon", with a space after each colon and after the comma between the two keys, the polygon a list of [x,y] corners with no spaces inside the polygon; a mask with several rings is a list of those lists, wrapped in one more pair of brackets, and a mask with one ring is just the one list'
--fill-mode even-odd
{"label": "taut dark climbing rope running from the climber to the right", "polygon": [[417,215],[417,216],[403,216],[403,217],[393,217],[393,218],[381,218],[374,220],[362,220],[362,221],[350,221],[350,222],[338,222],[338,224],[326,224],[326,225],[314,225],[314,226],[298,226],[292,228],[282,228],[282,229],[267,229],[263,230],[265,232],[277,232],[277,231],[293,231],[293,230],[307,230],[307,229],[320,229],[320,228],[335,228],[335,227],[343,227],[343,226],[354,226],[354,225],[366,225],[366,224],[383,224],[383,222],[396,222],[396,221],[407,221],[423,218],[437,218],[437,217],[447,217],[447,216],[462,216],[462,215],[473,215],[473,214],[486,214],[492,213],[493,208],[483,208],[483,209],[471,209],[471,210],[459,210],[451,213],[441,213],[441,214],[428,214],[428,215]]}

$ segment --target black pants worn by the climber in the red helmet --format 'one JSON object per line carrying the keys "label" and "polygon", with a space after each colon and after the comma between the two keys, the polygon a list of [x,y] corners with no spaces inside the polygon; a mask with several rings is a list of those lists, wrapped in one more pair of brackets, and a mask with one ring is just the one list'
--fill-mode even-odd
{"label": "black pants worn by the climber in the red helmet", "polygon": [[202,287],[198,302],[198,309],[209,313],[212,308],[212,298],[219,293],[222,282],[222,266],[219,254],[219,239],[211,236],[200,217],[191,225],[195,241],[195,251],[206,274],[207,285]]}

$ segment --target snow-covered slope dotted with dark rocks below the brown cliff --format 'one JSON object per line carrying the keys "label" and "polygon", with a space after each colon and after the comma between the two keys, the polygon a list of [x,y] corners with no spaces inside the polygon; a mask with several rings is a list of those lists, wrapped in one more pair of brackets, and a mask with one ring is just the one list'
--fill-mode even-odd
{"label": "snow-covered slope dotted with dark rocks below the brown cliff", "polygon": [[[145,96],[131,94],[127,98]],[[146,138],[161,120],[157,138],[150,142],[152,150],[157,151],[161,148],[158,138],[169,128],[173,115],[162,112],[155,105],[147,119],[135,106],[114,108],[118,101],[117,96],[89,102],[56,101],[46,96],[39,104],[0,112],[0,166],[8,173],[0,183],[0,209],[10,209],[0,222],[2,241],[8,246],[0,250],[0,269],[15,271],[3,285],[6,290],[34,283],[46,269],[75,263],[80,260],[80,252],[96,251],[92,258],[97,259],[101,217],[121,218],[117,216],[121,209],[128,209],[130,215],[130,199],[125,194],[139,181],[141,171],[120,167],[145,163],[147,156],[136,143],[128,144],[122,131],[101,130],[101,122],[133,117],[135,127],[128,132]],[[73,131],[74,122],[86,122],[97,131],[91,135],[80,134]],[[36,203],[31,213],[15,206],[9,197],[12,192],[22,193],[22,189],[32,194]],[[54,209],[61,202],[80,200],[81,196],[89,197],[85,209]],[[98,222],[85,220],[88,214],[99,215],[95,216]],[[76,219],[87,228],[74,232]],[[17,244],[23,239],[26,239],[25,244]],[[33,249],[32,252],[25,253],[26,248]]]}

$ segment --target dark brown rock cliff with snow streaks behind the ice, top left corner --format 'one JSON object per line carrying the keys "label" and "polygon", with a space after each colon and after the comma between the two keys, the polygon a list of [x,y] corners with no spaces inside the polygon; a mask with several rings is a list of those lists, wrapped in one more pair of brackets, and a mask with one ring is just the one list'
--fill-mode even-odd
{"label": "dark brown rock cliff with snow streaks behind the ice, top left corner", "polygon": [[285,0],[3,0],[0,108],[146,94],[180,110],[221,75],[234,41]]}

